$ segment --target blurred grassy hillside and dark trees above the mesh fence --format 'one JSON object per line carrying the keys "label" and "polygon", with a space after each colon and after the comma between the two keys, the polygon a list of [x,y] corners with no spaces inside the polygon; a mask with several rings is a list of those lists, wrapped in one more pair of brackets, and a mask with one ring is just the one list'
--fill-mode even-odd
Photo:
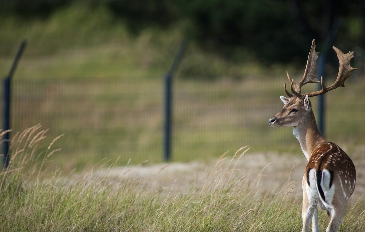
{"label": "blurred grassy hillside and dark trees above the mesh fence", "polygon": [[320,51],[337,17],[336,46],[365,44],[360,1],[5,0],[2,6],[0,68],[26,38],[25,60],[43,57],[25,64],[34,77],[160,76],[182,38],[191,41],[182,76],[302,69],[310,41],[316,38]]}

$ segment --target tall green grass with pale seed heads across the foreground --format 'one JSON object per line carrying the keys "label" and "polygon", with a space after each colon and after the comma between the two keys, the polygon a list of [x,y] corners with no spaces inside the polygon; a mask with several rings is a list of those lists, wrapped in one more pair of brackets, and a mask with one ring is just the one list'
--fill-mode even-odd
{"label": "tall green grass with pale seed heads across the foreground", "polygon": [[[149,189],[142,176],[128,176],[127,168],[119,177],[109,175],[113,165],[105,167],[103,162],[86,174],[65,175],[47,169],[45,164],[52,156],[43,160],[37,156],[39,152],[50,154],[53,148],[46,149],[42,140],[35,142],[36,131],[36,127],[28,129],[22,133],[25,136],[12,141],[15,149],[24,150],[0,174],[1,231],[299,231],[301,228],[301,197],[293,191],[298,183],[286,182],[264,190],[260,175],[238,175],[235,166],[246,151],[234,155],[230,162],[220,157],[215,167],[191,179],[183,191],[175,190],[174,184],[167,190]],[[44,149],[32,154],[34,147]],[[364,207],[363,199],[350,204],[339,231],[364,231]],[[320,211],[320,229],[324,230],[327,223],[326,214]]]}

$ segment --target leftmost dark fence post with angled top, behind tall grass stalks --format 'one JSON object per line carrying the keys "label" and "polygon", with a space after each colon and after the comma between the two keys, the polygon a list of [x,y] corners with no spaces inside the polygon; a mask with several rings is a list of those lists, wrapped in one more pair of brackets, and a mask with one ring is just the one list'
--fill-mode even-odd
{"label": "leftmost dark fence post with angled top, behind tall grass stalks", "polygon": [[[14,75],[16,66],[18,65],[19,59],[23,54],[24,48],[27,42],[24,40],[20,44],[18,52],[16,53],[13,64],[11,65],[10,71],[7,76],[5,76],[3,80],[3,130],[10,129],[10,100],[11,100],[11,77]],[[7,168],[9,165],[9,138],[10,133],[4,134],[3,138],[3,157],[2,163],[3,168]]]}

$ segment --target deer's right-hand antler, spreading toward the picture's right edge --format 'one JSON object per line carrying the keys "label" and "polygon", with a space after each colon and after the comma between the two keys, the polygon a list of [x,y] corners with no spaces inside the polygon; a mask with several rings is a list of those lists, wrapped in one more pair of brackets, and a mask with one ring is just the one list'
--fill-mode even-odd
{"label": "deer's right-hand antler, spreading toward the picture's right edge", "polygon": [[322,90],[305,94],[305,95],[308,95],[308,97],[325,94],[326,92],[334,90],[335,88],[340,87],[340,86],[345,87],[346,79],[349,78],[349,76],[351,76],[353,70],[357,69],[357,68],[351,67],[351,65],[350,65],[351,59],[354,58],[354,52],[348,52],[345,54],[335,46],[333,46],[333,49],[335,50],[337,57],[338,57],[338,61],[339,61],[339,70],[338,70],[338,75],[337,75],[336,81],[333,84],[331,84],[330,86],[325,87],[323,77],[322,77],[322,80],[321,80]]}

